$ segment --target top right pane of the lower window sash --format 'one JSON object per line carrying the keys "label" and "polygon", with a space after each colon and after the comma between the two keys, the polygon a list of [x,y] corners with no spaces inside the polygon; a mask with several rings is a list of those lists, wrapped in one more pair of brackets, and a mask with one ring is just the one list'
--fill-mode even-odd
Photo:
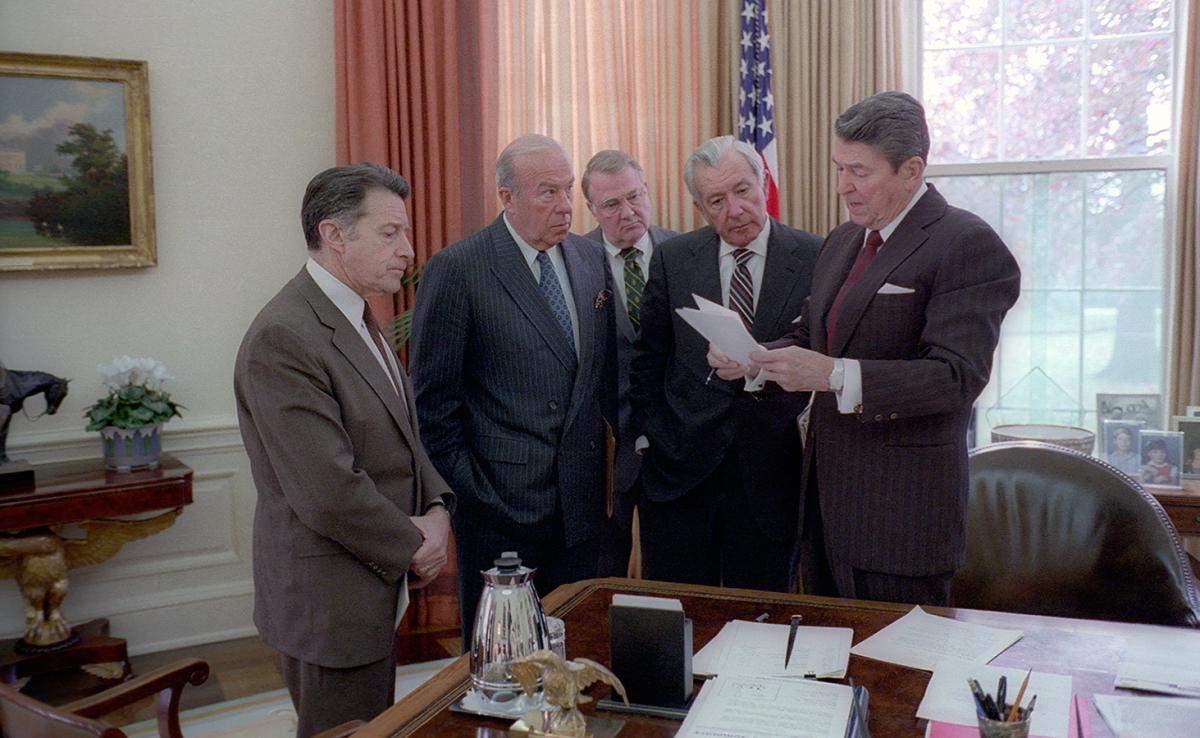
{"label": "top right pane of the lower window sash", "polygon": [[1087,286],[1163,286],[1166,182],[1160,170],[1087,175]]}

